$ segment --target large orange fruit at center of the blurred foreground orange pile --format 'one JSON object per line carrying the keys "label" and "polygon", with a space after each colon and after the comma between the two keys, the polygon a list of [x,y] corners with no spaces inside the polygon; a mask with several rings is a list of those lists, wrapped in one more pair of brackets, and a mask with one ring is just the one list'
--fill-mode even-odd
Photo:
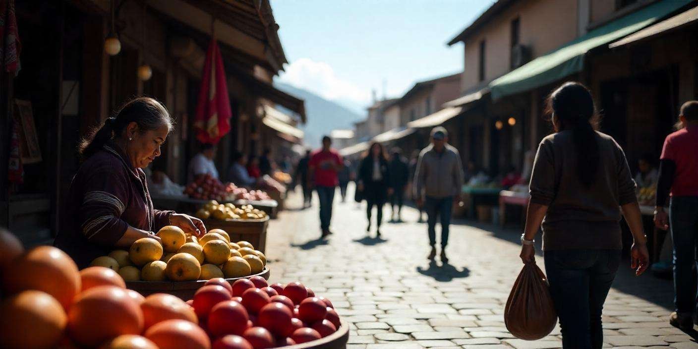
{"label": "large orange fruit at center of the blurred foreground orange pile", "polygon": [[143,313],[123,288],[98,286],[80,293],[68,311],[70,337],[95,347],[121,334],[140,334]]}

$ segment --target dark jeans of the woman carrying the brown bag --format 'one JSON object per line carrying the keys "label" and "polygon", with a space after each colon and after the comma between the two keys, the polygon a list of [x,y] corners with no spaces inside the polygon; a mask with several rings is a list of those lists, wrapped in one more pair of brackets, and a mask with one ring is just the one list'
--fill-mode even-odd
{"label": "dark jeans of the woman carrying the brown bag", "polygon": [[545,251],[544,260],[563,348],[601,348],[601,311],[616,278],[621,250]]}

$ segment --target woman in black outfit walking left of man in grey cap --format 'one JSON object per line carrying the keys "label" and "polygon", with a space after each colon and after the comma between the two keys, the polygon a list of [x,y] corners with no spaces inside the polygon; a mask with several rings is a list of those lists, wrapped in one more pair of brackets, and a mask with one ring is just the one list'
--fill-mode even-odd
{"label": "woman in black outfit walking left of man in grey cap", "polygon": [[364,192],[366,199],[366,217],[369,218],[369,226],[366,232],[371,232],[371,211],[376,206],[376,237],[380,237],[380,223],[383,221],[383,205],[388,195],[392,195],[389,187],[390,178],[387,156],[383,151],[383,145],[378,142],[371,144],[368,154],[364,156],[359,165],[359,191]]}

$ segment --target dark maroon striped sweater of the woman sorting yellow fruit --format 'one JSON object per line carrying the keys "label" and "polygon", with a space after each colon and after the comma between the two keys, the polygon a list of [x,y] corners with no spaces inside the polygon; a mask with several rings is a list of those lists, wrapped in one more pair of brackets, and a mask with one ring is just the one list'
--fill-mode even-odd
{"label": "dark maroon striped sweater of the woman sorting yellow fruit", "polygon": [[113,143],[80,165],[66,204],[54,246],[80,268],[116,249],[128,225],[158,231],[170,223],[172,213],[153,209],[143,170],[133,168],[128,155]]}

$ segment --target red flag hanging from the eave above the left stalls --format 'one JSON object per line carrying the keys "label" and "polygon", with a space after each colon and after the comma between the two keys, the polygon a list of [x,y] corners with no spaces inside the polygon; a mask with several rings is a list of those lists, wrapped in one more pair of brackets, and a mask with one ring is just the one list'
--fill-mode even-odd
{"label": "red flag hanging from the eave above the left stalls", "polygon": [[196,138],[202,143],[218,143],[230,131],[230,116],[232,112],[221,50],[218,49],[216,39],[211,38],[194,118]]}

